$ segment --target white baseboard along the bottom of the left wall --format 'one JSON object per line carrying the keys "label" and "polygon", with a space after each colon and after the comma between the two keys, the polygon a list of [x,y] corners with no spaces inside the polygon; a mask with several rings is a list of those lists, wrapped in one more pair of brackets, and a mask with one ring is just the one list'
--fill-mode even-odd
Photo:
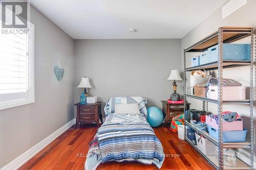
{"label": "white baseboard along the bottom of the left wall", "polygon": [[49,143],[51,143],[54,139],[56,139],[59,135],[61,135],[63,132],[67,131],[70,127],[72,127],[75,124],[75,118],[72,119],[70,122],[47,136],[45,139],[41,140],[39,143],[34,145],[34,147],[30,148],[26,152],[24,152],[22,155],[19,155],[17,158],[12,160],[10,163],[5,165],[1,168],[1,170],[13,170],[17,169],[20,166],[22,166],[24,163],[26,163],[29,159],[31,159],[33,156],[35,156],[39,151],[44,149]]}

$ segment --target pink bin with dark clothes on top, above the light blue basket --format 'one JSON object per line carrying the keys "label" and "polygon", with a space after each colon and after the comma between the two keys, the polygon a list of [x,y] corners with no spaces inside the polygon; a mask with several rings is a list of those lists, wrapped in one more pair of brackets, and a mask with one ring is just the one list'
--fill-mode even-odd
{"label": "pink bin with dark clothes on top, above the light blue basket", "polygon": [[[218,115],[214,115],[218,116]],[[218,124],[216,120],[210,115],[206,115],[205,123],[214,129],[218,129]],[[234,120],[233,122],[227,122],[223,120],[223,131],[242,131],[243,130],[243,120]]]}

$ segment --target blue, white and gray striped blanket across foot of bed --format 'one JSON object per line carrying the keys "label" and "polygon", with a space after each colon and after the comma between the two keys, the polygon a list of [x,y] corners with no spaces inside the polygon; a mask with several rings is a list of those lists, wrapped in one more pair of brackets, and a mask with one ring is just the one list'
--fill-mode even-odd
{"label": "blue, white and gray striped blanket across foot of bed", "polygon": [[102,162],[163,160],[162,144],[146,122],[105,124],[98,131],[98,142]]}

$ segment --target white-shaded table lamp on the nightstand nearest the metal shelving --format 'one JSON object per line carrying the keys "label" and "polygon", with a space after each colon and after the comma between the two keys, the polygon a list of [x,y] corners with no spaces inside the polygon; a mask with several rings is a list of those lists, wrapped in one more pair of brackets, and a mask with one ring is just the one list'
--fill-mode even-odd
{"label": "white-shaded table lamp on the nightstand nearest the metal shelving", "polygon": [[182,81],[180,75],[179,75],[179,71],[177,69],[173,69],[172,71],[170,71],[170,76],[168,77],[167,80],[173,80],[173,89],[174,89],[174,93],[170,94],[170,100],[172,101],[180,101],[180,95],[178,93],[176,93],[177,90],[177,85],[176,85],[176,81]]}

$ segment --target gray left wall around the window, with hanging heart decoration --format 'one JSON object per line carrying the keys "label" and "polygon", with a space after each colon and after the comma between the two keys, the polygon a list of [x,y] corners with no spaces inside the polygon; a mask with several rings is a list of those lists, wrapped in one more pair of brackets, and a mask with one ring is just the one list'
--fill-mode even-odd
{"label": "gray left wall around the window, with hanging heart decoration", "polygon": [[[73,39],[31,7],[35,25],[35,103],[0,110],[0,168],[74,118]],[[65,75],[59,82],[53,67]]]}

